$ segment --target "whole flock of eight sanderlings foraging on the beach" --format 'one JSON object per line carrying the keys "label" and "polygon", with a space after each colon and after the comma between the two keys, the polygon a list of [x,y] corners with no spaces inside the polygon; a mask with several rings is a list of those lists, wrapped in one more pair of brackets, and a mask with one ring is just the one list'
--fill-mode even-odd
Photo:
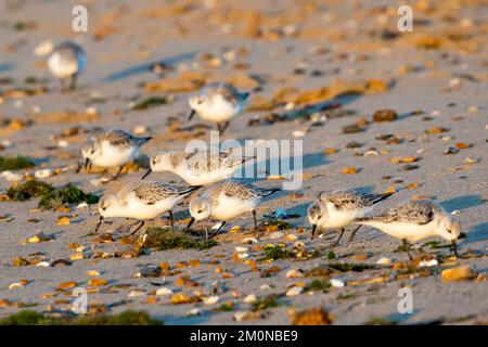
{"label": "whole flock of eight sanderlings foraging on the beach", "polygon": [[[48,66],[59,78],[61,88],[75,88],[76,78],[85,68],[86,54],[73,42],[65,42],[54,49],[48,60]],[[230,85],[209,85],[197,95],[190,98],[190,119],[197,115],[204,120],[217,125],[223,132],[229,121],[243,112],[248,93],[237,91]],[[88,137],[81,152],[85,168],[94,164],[102,168],[121,167],[139,155],[139,149],[151,138],[136,138],[124,130],[94,129]],[[114,195],[104,195],[99,203],[100,219],[95,231],[103,220],[111,217],[133,218],[142,228],[145,220],[169,213],[184,197],[204,187],[197,196],[191,198],[189,229],[193,222],[206,218],[221,221],[217,232],[226,221],[245,213],[252,213],[257,229],[256,208],[262,198],[279,189],[260,189],[252,184],[230,179],[234,171],[253,157],[234,157],[218,150],[195,153],[165,152],[156,153],[150,159],[151,168],[140,181],[129,183]],[[81,168],[81,166],[80,166]],[[120,169],[115,178],[120,174]],[[170,171],[182,178],[189,188],[143,180],[152,171]],[[103,176],[103,174],[102,174]],[[352,241],[361,226],[370,226],[401,240],[409,249],[409,242],[440,236],[452,242],[458,256],[455,240],[462,237],[461,227],[438,204],[432,201],[408,202],[376,216],[369,216],[373,206],[390,194],[362,194],[354,191],[321,192],[307,210],[311,223],[311,237],[318,229],[337,229],[341,241],[345,227],[354,224],[349,241]],[[410,253],[408,253],[410,257]]]}

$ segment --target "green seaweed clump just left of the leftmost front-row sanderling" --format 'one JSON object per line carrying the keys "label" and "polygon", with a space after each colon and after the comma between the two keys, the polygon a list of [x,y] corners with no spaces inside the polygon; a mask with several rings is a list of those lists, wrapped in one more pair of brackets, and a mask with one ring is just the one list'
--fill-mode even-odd
{"label": "green seaweed clump just left of the leftmost front-row sanderling", "polygon": [[79,188],[68,183],[63,188],[43,194],[39,202],[39,207],[42,209],[51,209],[82,202],[86,202],[87,204],[97,204],[99,198],[99,196],[90,193],[87,194]]}

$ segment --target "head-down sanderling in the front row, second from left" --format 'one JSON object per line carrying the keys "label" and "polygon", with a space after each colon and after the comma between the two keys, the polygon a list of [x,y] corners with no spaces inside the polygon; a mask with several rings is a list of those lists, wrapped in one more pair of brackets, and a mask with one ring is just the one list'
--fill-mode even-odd
{"label": "head-down sanderling in the front row, second from left", "polygon": [[256,231],[256,207],[261,203],[262,197],[278,191],[280,189],[262,189],[234,180],[224,180],[210,184],[203,189],[200,196],[195,196],[190,201],[189,207],[192,218],[187,226],[187,230],[190,229],[195,220],[211,217],[222,221],[216,231],[219,232],[227,221],[251,211]]}

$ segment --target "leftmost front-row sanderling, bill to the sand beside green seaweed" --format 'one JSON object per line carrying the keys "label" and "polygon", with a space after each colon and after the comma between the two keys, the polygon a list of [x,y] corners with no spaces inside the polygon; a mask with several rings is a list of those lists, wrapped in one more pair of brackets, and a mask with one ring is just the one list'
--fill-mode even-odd
{"label": "leftmost front-row sanderling, bill to the sand beside green seaweed", "polygon": [[154,219],[168,211],[171,227],[174,218],[171,209],[180,200],[200,187],[179,188],[156,181],[139,181],[129,183],[117,194],[104,195],[99,202],[100,219],[97,232],[105,218],[124,217],[140,220],[136,233],[144,226],[145,220]]}

